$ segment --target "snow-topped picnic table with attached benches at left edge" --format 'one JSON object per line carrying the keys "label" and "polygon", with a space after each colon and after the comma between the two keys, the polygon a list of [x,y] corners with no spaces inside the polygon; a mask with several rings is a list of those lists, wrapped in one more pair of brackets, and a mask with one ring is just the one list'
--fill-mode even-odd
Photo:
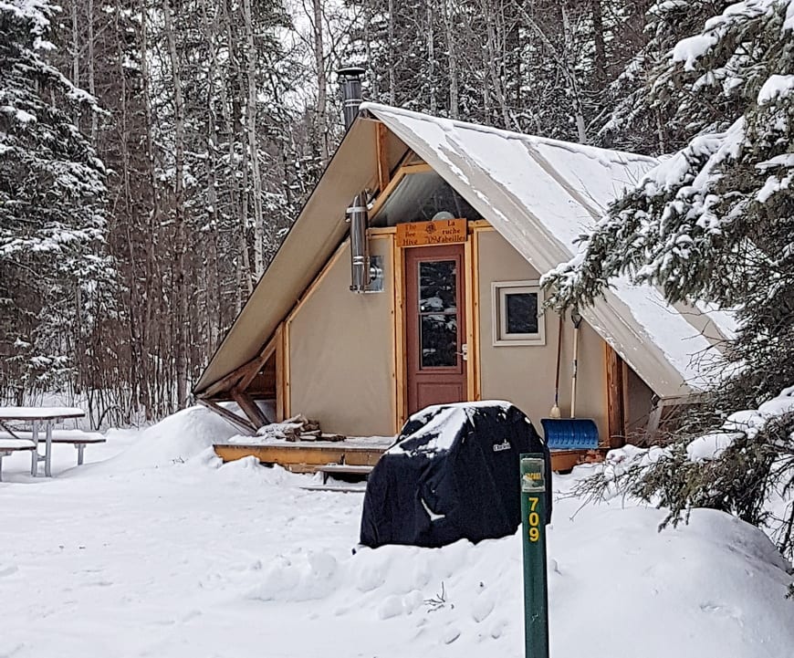
{"label": "snow-topped picnic table with attached benches at left edge", "polygon": [[[82,430],[55,430],[54,421],[82,418],[86,413],[77,407],[0,407],[0,421],[30,423],[30,431],[0,432],[0,479],[3,475],[3,457],[19,451],[30,451],[30,475],[38,474],[38,463],[44,462],[44,475],[52,476],[52,445],[73,444],[78,451],[78,465],[83,463],[83,453],[88,444],[104,443],[105,438],[96,432]],[[39,425],[45,423],[45,453],[39,454]]]}

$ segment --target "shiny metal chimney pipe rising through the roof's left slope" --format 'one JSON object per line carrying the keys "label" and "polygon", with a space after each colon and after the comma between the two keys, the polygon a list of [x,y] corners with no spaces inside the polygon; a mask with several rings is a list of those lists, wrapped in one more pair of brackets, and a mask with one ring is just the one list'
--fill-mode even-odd
{"label": "shiny metal chimney pipe rising through the roof's left slope", "polygon": [[[364,69],[345,67],[337,71],[342,90],[342,114],[345,130],[350,130],[359,114],[361,101],[361,76]],[[347,211],[350,222],[350,290],[367,292],[370,288],[370,244],[367,240],[367,194],[361,192],[353,199]]]}

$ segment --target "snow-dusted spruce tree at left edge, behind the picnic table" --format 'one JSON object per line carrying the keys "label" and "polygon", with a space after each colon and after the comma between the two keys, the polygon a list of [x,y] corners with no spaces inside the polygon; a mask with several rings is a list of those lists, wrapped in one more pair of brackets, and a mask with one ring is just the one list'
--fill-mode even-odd
{"label": "snow-dusted spruce tree at left edge, behind the picnic table", "polygon": [[0,3],[0,387],[17,397],[71,378],[112,279],[105,172],[75,125],[99,110],[47,61],[54,15]]}

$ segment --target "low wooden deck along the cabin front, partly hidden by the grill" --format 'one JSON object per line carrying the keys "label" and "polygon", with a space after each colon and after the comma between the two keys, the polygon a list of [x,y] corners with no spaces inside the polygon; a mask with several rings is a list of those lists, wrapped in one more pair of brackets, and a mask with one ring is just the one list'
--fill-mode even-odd
{"label": "low wooden deck along the cabin front, partly hidden by the grill", "polygon": [[[327,464],[374,466],[388,447],[387,444],[354,444],[350,441],[214,444],[215,453],[225,462],[253,456],[263,464],[277,464],[293,473],[315,473],[320,466]],[[600,462],[603,455],[602,450],[554,450],[551,469],[569,471],[575,465]]]}

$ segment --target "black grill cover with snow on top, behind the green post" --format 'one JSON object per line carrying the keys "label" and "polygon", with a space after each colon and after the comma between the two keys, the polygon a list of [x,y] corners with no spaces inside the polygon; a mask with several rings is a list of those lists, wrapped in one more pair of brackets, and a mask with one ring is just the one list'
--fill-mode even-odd
{"label": "black grill cover with snow on top, behind the green post", "polygon": [[361,543],[440,547],[512,535],[521,522],[518,455],[546,457],[527,416],[508,402],[463,402],[414,413],[372,471]]}

